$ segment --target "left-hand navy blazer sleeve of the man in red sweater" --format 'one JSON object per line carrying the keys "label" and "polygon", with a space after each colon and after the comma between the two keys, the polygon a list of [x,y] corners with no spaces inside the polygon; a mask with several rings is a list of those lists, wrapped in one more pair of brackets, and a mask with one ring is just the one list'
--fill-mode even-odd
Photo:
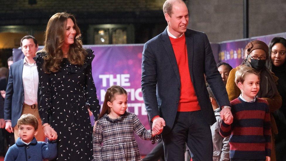
{"label": "left-hand navy blazer sleeve of the man in red sweater", "polygon": [[150,120],[160,115],[156,96],[157,67],[154,53],[148,43],[145,43],[142,52],[141,87],[145,108]]}

